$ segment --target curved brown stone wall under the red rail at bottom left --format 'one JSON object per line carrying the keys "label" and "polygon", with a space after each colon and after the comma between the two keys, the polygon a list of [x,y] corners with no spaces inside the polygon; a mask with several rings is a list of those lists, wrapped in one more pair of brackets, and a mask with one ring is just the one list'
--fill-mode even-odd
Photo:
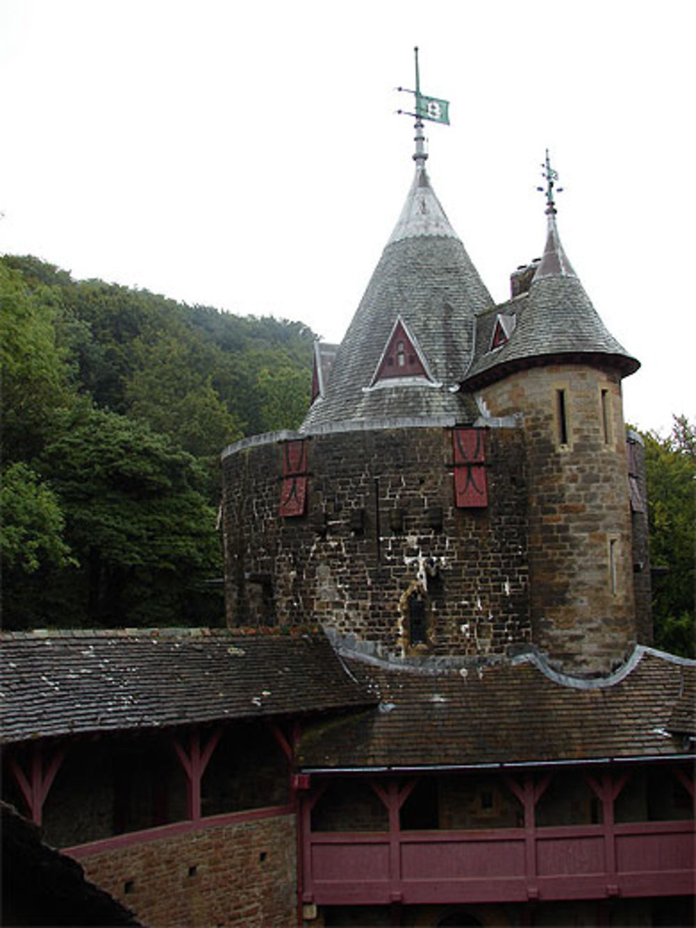
{"label": "curved brown stone wall under the red rail at bottom left", "polygon": [[295,822],[278,816],[84,856],[87,879],[149,928],[297,921]]}

